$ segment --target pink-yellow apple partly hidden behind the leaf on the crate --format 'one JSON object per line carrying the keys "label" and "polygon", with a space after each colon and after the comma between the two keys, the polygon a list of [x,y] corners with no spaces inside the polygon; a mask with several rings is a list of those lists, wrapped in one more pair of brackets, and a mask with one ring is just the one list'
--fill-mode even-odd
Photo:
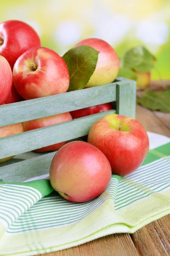
{"label": "pink-yellow apple partly hidden behind the leaf on the crate", "polygon": [[75,47],[80,45],[88,45],[99,51],[96,69],[86,87],[113,82],[119,72],[119,57],[111,45],[98,38],[82,40]]}

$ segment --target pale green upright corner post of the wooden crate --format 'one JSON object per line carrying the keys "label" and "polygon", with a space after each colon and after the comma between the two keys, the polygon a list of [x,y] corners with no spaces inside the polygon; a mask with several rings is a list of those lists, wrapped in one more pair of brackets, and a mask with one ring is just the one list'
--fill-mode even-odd
{"label": "pale green upright corner post of the wooden crate", "polygon": [[117,84],[116,113],[135,118],[135,108],[136,82],[129,80],[124,84]]}

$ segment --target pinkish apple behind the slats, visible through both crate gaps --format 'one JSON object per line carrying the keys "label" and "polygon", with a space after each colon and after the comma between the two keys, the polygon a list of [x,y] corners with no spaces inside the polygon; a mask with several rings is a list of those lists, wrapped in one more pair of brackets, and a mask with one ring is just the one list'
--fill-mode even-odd
{"label": "pinkish apple behind the slats, visible through both crate gaps", "polygon": [[[47,116],[47,117],[42,117],[39,119],[23,122],[23,129],[24,131],[30,131],[30,130],[42,128],[49,125],[56,125],[61,122],[67,122],[70,120],[72,120],[71,114],[69,112],[66,112],[66,113],[62,113],[54,116]],[[57,134],[56,134],[56,137],[57,137]],[[46,146],[43,148],[38,148],[34,151],[37,151],[37,152],[56,151],[59,148],[61,148],[63,145],[65,145],[65,143],[67,142],[64,141],[64,142]]]}

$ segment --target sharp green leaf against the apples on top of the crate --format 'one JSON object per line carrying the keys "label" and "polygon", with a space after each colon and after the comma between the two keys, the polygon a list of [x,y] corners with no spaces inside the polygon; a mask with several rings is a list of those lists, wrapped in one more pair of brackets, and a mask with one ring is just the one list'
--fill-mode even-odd
{"label": "sharp green leaf against the apples on top of the crate", "polygon": [[84,88],[96,69],[99,52],[94,48],[81,45],[70,49],[62,57],[70,74],[68,91]]}

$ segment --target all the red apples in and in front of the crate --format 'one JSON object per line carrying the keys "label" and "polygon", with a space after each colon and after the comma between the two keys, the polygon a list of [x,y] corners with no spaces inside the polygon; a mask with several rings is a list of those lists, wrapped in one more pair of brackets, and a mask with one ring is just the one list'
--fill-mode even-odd
{"label": "all the red apples in and in front of the crate", "polygon": [[[119,72],[116,51],[97,38],[85,39],[75,47],[80,45],[99,51],[96,69],[86,87],[113,82]],[[0,77],[0,105],[65,93],[70,81],[63,58],[57,52],[41,47],[37,32],[19,20],[0,24]],[[106,103],[8,125],[0,128],[0,137],[111,109],[111,104]],[[132,118],[116,114],[107,115],[92,125],[88,143],[74,141],[65,144],[57,143],[35,151],[59,149],[50,167],[51,185],[64,198],[74,202],[88,201],[100,195],[108,186],[112,173],[126,175],[135,171],[149,148],[142,125]]]}

